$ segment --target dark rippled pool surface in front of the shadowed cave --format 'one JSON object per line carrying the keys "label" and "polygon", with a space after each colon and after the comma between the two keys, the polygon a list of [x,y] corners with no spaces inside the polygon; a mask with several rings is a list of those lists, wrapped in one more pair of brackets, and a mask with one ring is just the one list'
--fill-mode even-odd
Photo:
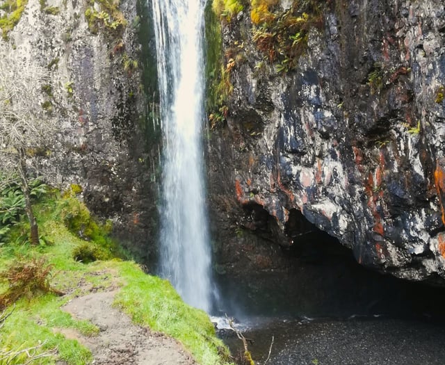
{"label": "dark rippled pool surface in front of the shadowed cave", "polygon": [[[259,320],[244,328],[256,364],[445,364],[445,325],[395,318]],[[225,339],[233,354],[243,346]]]}

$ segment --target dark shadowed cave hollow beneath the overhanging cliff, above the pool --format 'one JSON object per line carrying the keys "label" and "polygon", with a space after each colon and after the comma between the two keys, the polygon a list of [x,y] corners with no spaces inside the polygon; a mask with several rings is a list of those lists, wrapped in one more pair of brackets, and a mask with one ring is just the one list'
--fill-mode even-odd
{"label": "dark shadowed cave hollow beneath the overhanging cliff, above the pool", "polygon": [[[256,225],[256,234],[273,234],[273,220],[264,209],[252,205],[246,211]],[[444,289],[360,266],[350,249],[300,211],[289,212],[285,233],[291,243],[280,248],[285,268],[217,275],[221,312],[241,320],[252,316],[445,319]]]}

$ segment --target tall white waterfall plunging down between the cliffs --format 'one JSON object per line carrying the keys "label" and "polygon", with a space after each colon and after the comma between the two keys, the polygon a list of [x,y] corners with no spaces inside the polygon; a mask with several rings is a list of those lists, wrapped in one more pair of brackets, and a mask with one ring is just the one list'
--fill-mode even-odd
{"label": "tall white waterfall plunging down between the cliffs", "polygon": [[163,131],[161,276],[190,305],[211,309],[204,202],[204,0],[152,0]]}

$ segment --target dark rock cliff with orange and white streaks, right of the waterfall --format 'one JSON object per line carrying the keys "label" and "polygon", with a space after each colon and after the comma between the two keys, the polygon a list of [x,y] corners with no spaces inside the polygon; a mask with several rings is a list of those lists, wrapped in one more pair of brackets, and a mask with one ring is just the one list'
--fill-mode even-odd
{"label": "dark rock cliff with orange and white streaks, right of the waterfall", "polygon": [[444,284],[444,4],[309,2],[321,19],[292,58],[267,54],[250,4],[222,17],[233,91],[209,142],[218,268],[276,270],[315,225],[364,266]]}

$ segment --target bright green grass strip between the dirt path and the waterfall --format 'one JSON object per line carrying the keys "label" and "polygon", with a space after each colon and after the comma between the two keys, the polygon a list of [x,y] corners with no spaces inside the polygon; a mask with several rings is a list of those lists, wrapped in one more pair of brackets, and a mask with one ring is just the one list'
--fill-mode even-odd
{"label": "bright green grass strip between the dirt path and the waterfall", "polygon": [[186,305],[167,280],[145,275],[129,262],[120,264],[120,275],[127,285],[116,295],[115,304],[133,321],[178,339],[200,364],[227,364],[222,358],[229,354],[216,339],[207,314]]}

